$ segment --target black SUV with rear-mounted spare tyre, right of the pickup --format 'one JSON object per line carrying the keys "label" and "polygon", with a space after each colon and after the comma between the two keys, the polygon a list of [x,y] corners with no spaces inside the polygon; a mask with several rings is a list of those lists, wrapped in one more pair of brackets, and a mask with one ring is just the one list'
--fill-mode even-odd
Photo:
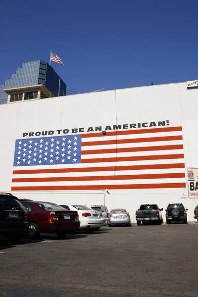
{"label": "black SUV with rear-mounted spare tyre, right of the pickup", "polygon": [[182,203],[168,204],[166,209],[166,224],[170,224],[172,221],[184,221],[187,224],[187,210]]}

